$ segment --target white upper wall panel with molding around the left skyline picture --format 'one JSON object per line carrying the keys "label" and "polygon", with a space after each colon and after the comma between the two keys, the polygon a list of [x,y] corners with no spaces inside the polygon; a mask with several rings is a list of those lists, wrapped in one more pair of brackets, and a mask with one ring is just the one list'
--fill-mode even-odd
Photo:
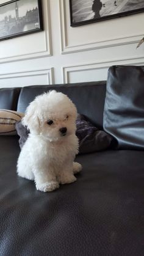
{"label": "white upper wall panel with molding around the left skyline picture", "polygon": [[52,55],[49,1],[43,1],[44,31],[0,42],[0,63]]}

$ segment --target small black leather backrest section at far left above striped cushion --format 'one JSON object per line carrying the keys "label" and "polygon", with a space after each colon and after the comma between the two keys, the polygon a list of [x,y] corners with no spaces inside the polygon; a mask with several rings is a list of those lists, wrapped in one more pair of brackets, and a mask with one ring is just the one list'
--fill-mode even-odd
{"label": "small black leather backrest section at far left above striped cushion", "polygon": [[16,111],[20,88],[0,88],[0,109]]}

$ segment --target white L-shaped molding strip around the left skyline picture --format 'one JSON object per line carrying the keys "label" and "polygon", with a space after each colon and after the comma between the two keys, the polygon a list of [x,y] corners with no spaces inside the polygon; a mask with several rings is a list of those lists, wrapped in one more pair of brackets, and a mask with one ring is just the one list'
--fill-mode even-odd
{"label": "white L-shaped molding strip around the left skyline picture", "polygon": [[[7,62],[16,62],[20,60],[29,60],[35,59],[39,57],[49,57],[52,56],[52,45],[51,45],[51,19],[50,19],[50,9],[49,9],[49,0],[43,0],[43,23],[44,23],[44,32],[45,33],[45,49],[41,51],[35,51],[35,53],[26,53],[26,54],[17,54],[11,57],[0,57],[0,63],[7,63]],[[41,33],[41,32],[39,32]],[[36,33],[37,34],[37,33]],[[24,35],[31,36],[30,35]],[[16,37],[20,38],[20,37]],[[16,40],[15,38],[15,40]],[[21,37],[22,38],[22,37]],[[9,39],[12,42],[12,39]]]}

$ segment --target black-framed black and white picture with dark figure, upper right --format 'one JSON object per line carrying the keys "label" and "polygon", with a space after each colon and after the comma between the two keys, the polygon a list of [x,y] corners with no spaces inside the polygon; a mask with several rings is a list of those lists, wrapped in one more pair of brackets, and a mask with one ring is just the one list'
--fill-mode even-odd
{"label": "black-framed black and white picture with dark figure, upper right", "polygon": [[71,26],[144,12],[144,0],[70,0]]}

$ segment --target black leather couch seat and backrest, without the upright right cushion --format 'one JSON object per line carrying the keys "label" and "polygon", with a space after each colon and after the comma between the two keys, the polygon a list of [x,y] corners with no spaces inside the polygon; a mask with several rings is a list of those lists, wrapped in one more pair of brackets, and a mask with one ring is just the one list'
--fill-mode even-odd
{"label": "black leather couch seat and backrest, without the upright right cushion", "polygon": [[[48,89],[103,128],[106,81],[0,89],[0,108],[24,112]],[[44,193],[16,175],[18,139],[0,137],[1,256],[144,255],[143,150],[77,155],[77,181]]]}

